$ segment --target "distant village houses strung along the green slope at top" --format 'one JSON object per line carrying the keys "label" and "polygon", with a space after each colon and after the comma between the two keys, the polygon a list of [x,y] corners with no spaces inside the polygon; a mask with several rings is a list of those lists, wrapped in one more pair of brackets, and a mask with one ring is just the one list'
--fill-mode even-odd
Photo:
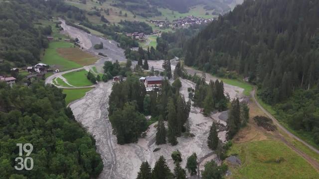
{"label": "distant village houses strung along the green slope at top", "polygon": [[186,16],[184,18],[175,19],[172,22],[165,21],[165,20],[150,20],[151,23],[154,23],[155,26],[160,28],[186,28],[189,27],[189,25],[192,24],[203,24],[203,23],[209,23],[211,21],[215,20],[215,18],[201,18],[201,17],[195,17],[193,15]]}

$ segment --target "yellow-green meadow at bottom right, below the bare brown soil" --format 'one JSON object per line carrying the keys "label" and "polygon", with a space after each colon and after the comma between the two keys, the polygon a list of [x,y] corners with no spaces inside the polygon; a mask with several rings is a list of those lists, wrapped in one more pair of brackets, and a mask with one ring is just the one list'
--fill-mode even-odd
{"label": "yellow-green meadow at bottom right, below the bare brown soil", "polygon": [[[301,156],[277,140],[235,143],[242,165],[231,169],[235,179],[318,179],[319,173]],[[281,159],[281,162],[276,160]]]}

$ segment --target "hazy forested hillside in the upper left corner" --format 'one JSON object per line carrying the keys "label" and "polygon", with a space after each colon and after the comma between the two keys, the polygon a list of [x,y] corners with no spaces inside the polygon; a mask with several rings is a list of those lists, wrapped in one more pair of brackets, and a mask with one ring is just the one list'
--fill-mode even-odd
{"label": "hazy forested hillside in the upper left corner", "polygon": [[22,67],[35,64],[42,48],[48,47],[46,36],[51,27],[37,28],[34,23],[50,19],[53,13],[70,12],[74,19],[84,19],[84,11],[67,5],[62,0],[10,0],[0,2],[0,64],[1,72],[9,72],[10,66]]}

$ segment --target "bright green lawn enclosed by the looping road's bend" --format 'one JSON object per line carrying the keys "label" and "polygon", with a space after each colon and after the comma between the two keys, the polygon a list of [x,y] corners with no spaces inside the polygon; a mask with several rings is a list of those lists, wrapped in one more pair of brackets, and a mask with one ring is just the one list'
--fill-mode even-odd
{"label": "bright green lawn enclosed by the looping road's bend", "polygon": [[73,85],[75,87],[86,87],[93,85],[92,82],[87,79],[87,74],[87,71],[81,70],[77,72],[70,72],[62,76],[68,81],[70,85]]}

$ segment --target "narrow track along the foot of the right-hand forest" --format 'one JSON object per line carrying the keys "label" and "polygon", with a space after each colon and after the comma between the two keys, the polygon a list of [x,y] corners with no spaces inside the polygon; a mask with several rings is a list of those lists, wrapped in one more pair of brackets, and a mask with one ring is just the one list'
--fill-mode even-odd
{"label": "narrow track along the foot of the right-hand forest", "polygon": [[289,136],[295,138],[296,140],[300,141],[301,143],[303,143],[304,145],[306,145],[307,147],[309,147],[311,150],[313,150],[314,152],[316,152],[317,154],[319,154],[319,150],[317,150],[315,147],[313,147],[312,145],[308,144],[307,142],[305,142],[304,140],[302,140],[301,138],[297,137],[296,135],[294,135],[293,133],[289,132],[284,126],[282,126],[278,120],[271,115],[263,106],[260,105],[260,103],[258,102],[258,100],[256,99],[256,94],[255,94],[255,89],[251,92],[251,96],[253,97],[255,103],[257,104],[257,106],[269,117],[273,120],[273,122],[281,129],[283,130],[285,133],[287,133]]}

